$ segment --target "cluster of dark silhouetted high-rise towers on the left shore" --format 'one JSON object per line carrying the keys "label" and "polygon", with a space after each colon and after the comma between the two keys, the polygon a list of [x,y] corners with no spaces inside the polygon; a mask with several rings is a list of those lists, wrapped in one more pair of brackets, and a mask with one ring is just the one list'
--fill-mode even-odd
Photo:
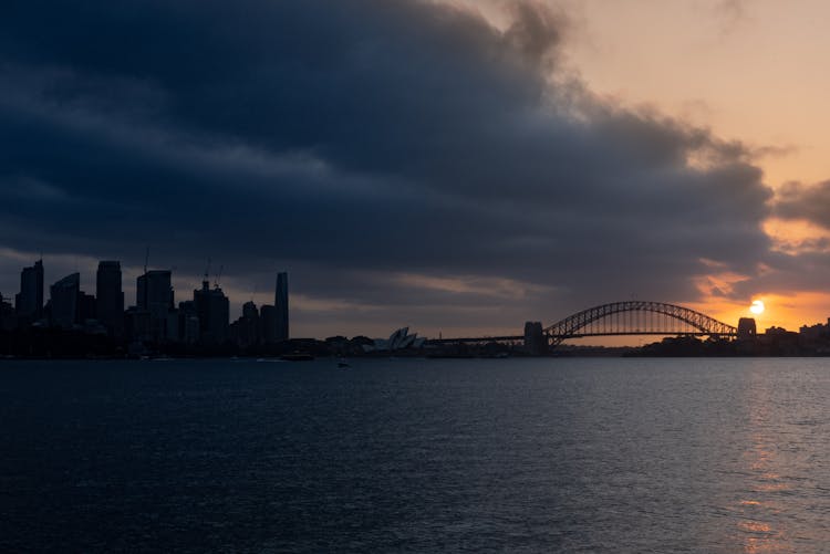
{"label": "cluster of dark silhouetted high-rise towers on the left shore", "polygon": [[288,274],[284,272],[277,275],[277,305],[258,309],[253,302],[245,303],[241,317],[232,328],[230,301],[218,283],[211,288],[204,281],[200,289],[194,290],[193,300],[175,306],[170,270],[145,269],[135,282],[135,305],[126,310],[122,265],[116,260],[98,262],[95,295],[81,291],[81,276],[75,272],[50,286],[49,302],[44,305],[42,282],[41,260],[22,270],[17,306],[0,296],[0,330],[15,332],[51,326],[83,334],[106,334],[115,339],[114,344],[128,347],[131,353],[134,349],[146,352],[142,344],[210,348],[234,344],[248,348],[280,345],[289,338]]}

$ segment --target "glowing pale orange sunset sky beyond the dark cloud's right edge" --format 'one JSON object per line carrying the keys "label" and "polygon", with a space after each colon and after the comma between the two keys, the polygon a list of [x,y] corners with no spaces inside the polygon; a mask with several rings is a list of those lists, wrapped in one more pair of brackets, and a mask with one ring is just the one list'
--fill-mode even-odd
{"label": "glowing pale orange sunset sky beyond the dark cloud's right edge", "polygon": [[[754,164],[772,189],[789,181],[830,179],[830,3],[818,0],[540,0],[570,22],[559,69],[601,97],[649,107],[757,153]],[[463,3],[497,27],[509,20],[504,0]],[[805,238],[830,232],[771,220],[765,231],[790,251]],[[790,250],[788,250],[790,249]],[[713,275],[716,280],[722,276]],[[740,276],[733,276],[740,279]],[[827,322],[830,294],[758,291],[745,302],[704,299],[689,307],[735,324],[766,304],[759,330],[798,330]],[[660,299],[654,299],[660,300]],[[633,344],[636,344],[633,343]]]}

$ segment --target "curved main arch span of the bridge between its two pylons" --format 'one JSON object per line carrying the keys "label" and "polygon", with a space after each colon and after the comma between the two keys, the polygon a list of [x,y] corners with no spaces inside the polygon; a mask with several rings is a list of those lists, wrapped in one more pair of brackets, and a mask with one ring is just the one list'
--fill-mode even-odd
{"label": "curved main arch span of the bridge between its two pylons", "polygon": [[[621,317],[621,314],[629,314],[629,317]],[[658,314],[664,317],[662,318],[663,321],[657,322],[655,325],[647,317],[632,317],[632,314]],[[666,318],[685,324],[687,330],[678,331],[670,328],[665,325]],[[593,328],[602,320],[605,320],[604,327],[602,330]],[[608,324],[609,320],[610,325]],[[632,323],[634,324],[634,328],[632,328]],[[735,336],[737,328],[688,307],[666,304],[664,302],[632,300],[627,302],[612,302],[577,312],[546,327],[544,334],[548,337],[548,342],[552,346],[556,346],[568,338],[583,336],[676,334]]]}

